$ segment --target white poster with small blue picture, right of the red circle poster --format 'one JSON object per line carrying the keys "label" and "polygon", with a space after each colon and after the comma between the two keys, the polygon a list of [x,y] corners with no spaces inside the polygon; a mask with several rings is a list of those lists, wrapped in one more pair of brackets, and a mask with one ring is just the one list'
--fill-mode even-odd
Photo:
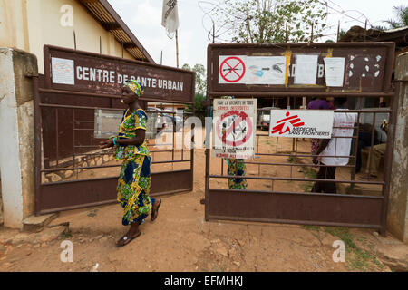
{"label": "white poster with small blue picture, right of the red circle poster", "polygon": [[248,56],[245,79],[248,84],[285,84],[285,56]]}

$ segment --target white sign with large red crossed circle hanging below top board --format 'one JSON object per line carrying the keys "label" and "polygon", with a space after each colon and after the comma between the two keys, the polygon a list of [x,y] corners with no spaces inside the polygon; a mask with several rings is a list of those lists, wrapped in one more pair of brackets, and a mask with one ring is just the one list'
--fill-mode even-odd
{"label": "white sign with large red crossed circle hanging below top board", "polygon": [[213,157],[250,159],[255,155],[257,99],[215,99]]}

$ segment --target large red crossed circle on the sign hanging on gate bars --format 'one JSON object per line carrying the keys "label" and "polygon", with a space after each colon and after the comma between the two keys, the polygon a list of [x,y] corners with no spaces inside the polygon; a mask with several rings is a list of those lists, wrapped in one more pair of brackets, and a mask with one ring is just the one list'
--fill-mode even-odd
{"label": "large red crossed circle on the sign hanging on gate bars", "polygon": [[[234,123],[227,129],[227,131],[223,132],[221,130],[222,122],[229,116],[238,116],[238,119],[234,121]],[[241,140],[234,140],[234,141],[227,140],[227,136],[234,130],[234,127],[238,127],[241,121],[247,121],[247,124],[248,124],[247,134]],[[252,122],[250,118],[248,117],[248,115],[245,113],[245,111],[228,111],[224,113],[223,115],[221,115],[221,118],[219,118],[219,121],[217,121],[217,133],[219,135],[219,138],[221,138],[224,144],[227,144],[229,146],[234,146],[234,147],[239,146],[239,145],[244,144],[251,137]]]}

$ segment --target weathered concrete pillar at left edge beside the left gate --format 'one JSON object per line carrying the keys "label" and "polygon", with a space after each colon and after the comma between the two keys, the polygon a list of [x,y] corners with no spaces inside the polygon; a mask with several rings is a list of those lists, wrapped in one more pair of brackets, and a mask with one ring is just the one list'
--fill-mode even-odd
{"label": "weathered concrete pillar at left edge beside the left gate", "polygon": [[35,55],[0,48],[0,171],[5,227],[21,228],[34,212]]}

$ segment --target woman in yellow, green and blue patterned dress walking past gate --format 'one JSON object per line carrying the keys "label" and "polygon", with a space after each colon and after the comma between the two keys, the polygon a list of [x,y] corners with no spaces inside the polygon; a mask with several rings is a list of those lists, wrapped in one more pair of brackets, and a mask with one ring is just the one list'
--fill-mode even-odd
{"label": "woman in yellow, green and blue patterned dress walking past gate", "polygon": [[124,111],[117,137],[100,143],[100,148],[116,147],[116,160],[123,160],[118,180],[117,200],[124,208],[121,223],[131,225],[129,231],[116,243],[122,247],[133,238],[141,236],[139,225],[151,211],[151,220],[157,218],[161,199],[149,198],[151,189],[151,153],[145,138],[147,115],[141,109],[138,98],[143,93],[140,82],[127,81],[122,88],[122,103],[129,108]]}

